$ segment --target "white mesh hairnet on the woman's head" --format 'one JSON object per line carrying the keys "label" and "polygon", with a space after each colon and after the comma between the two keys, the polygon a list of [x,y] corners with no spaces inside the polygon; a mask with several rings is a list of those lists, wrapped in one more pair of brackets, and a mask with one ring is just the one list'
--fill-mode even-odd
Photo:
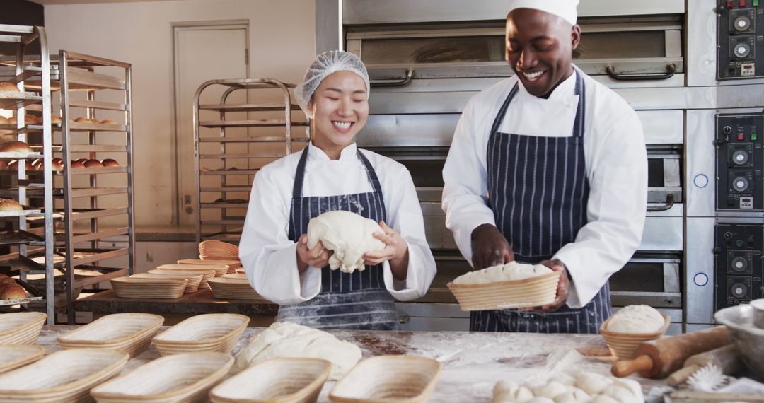
{"label": "white mesh hairnet on the woman's head", "polygon": [[313,118],[313,111],[308,108],[308,102],[313,96],[313,92],[319,88],[321,82],[332,73],[338,71],[351,71],[361,76],[366,83],[366,96],[370,92],[369,73],[366,72],[364,62],[353,53],[342,50],[329,50],[316,56],[316,60],[308,67],[305,72],[305,79],[294,89],[294,98],[296,98],[299,108],[303,109],[308,118]]}

